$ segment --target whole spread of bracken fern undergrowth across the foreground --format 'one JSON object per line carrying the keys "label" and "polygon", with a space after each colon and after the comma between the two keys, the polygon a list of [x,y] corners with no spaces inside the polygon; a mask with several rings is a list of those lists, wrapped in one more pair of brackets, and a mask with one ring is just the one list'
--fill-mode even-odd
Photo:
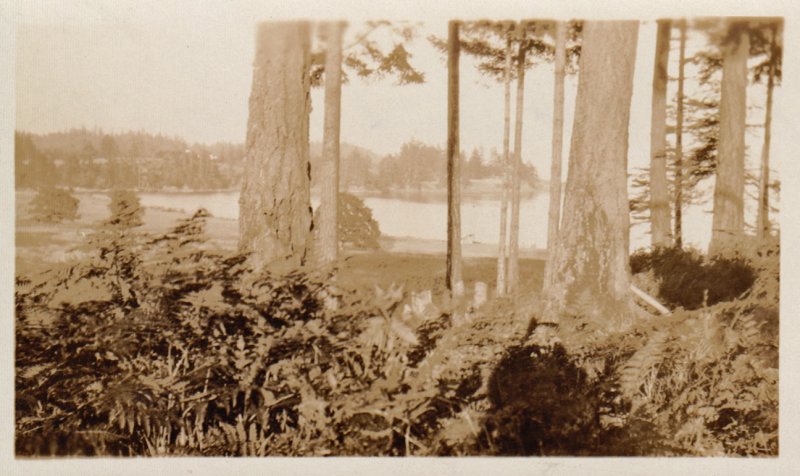
{"label": "whole spread of bracken fern undergrowth across the foreground", "polygon": [[20,456],[777,454],[777,242],[743,295],[533,345],[535,293],[269,273],[203,211],[150,236],[117,208],[91,259],[17,277]]}

